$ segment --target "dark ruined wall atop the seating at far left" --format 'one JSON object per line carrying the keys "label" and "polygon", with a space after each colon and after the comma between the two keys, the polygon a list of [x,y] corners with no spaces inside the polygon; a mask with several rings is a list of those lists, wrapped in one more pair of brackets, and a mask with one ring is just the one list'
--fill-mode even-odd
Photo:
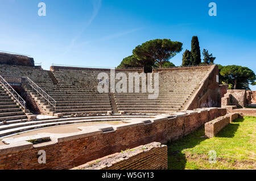
{"label": "dark ruined wall atop the seating at far left", "polygon": [[34,58],[18,54],[1,53],[0,64],[34,66]]}

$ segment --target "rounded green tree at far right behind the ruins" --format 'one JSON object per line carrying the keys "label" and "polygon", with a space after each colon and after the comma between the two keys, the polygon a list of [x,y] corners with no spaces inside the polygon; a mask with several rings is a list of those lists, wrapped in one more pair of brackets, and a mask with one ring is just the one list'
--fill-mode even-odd
{"label": "rounded green tree at far right behind the ruins", "polygon": [[253,70],[247,67],[228,65],[219,66],[219,69],[222,82],[231,83],[234,89],[250,90],[249,85],[253,85],[256,81]]}

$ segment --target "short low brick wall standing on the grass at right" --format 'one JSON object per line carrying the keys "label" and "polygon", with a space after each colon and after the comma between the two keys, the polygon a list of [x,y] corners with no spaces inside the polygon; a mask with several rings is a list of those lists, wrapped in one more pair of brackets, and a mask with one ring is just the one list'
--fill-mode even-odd
{"label": "short low brick wall standing on the grass at right", "polygon": [[229,115],[218,117],[208,123],[205,123],[205,136],[212,138],[216,136],[226,125],[237,119],[238,113],[230,113]]}

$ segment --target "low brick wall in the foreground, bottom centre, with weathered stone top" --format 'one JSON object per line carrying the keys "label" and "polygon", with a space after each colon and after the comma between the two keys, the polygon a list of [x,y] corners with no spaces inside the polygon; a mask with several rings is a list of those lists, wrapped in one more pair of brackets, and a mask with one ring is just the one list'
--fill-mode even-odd
{"label": "low brick wall in the foreground, bottom centre, with weathered stone top", "polygon": [[99,158],[72,170],[167,170],[167,168],[167,146],[152,142]]}

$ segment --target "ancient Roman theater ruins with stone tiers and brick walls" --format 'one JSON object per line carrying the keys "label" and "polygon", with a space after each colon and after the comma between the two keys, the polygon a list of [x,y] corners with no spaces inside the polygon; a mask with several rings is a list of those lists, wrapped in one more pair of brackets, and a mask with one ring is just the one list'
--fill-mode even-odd
{"label": "ancient Roman theater ruins with stone tiers and brick walls", "polygon": [[[241,116],[242,103],[255,98],[253,91],[220,85],[217,65],[156,68],[146,76],[151,79],[139,78],[139,91],[133,79],[133,92],[129,73],[141,74],[143,68],[114,69],[114,83],[112,72],[1,64],[0,169],[167,169],[163,144],[221,116],[229,123]],[[127,86],[121,88],[127,91],[112,89],[120,87],[118,73],[126,74]],[[109,85],[108,91],[98,91],[101,83]],[[145,85],[158,85],[158,96],[150,99],[155,91],[143,92]],[[232,97],[236,103],[230,103]],[[228,124],[222,120],[205,131],[215,134]],[[122,150],[126,158],[118,156]],[[129,153],[141,164],[132,164]]]}

